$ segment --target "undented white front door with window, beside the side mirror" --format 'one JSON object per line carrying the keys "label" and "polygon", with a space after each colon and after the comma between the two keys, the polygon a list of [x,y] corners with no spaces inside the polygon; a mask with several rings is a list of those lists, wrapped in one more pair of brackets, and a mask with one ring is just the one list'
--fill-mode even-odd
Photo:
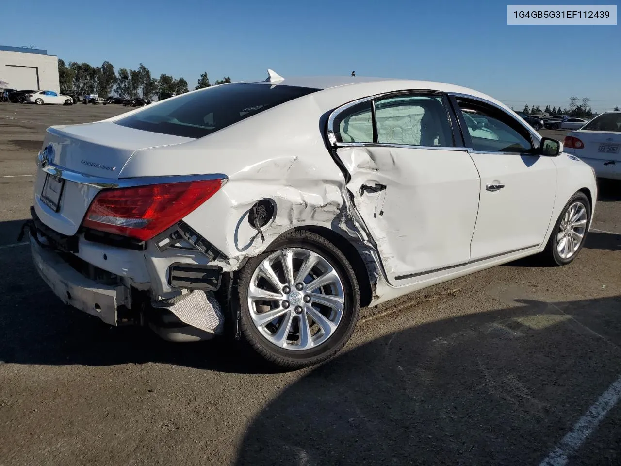
{"label": "undented white front door with window, beside the side mirror", "polygon": [[[481,176],[470,260],[530,249],[545,239],[555,201],[556,165],[532,155],[534,134],[509,112],[458,96],[466,145]],[[474,117],[473,117],[474,115]]]}

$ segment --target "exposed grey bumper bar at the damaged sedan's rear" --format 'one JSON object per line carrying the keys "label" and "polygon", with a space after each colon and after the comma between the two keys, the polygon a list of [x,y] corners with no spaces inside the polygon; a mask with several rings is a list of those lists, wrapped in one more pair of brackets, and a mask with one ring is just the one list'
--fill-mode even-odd
{"label": "exposed grey bumper bar at the damaged sedan's rear", "polygon": [[102,285],[90,280],[66,263],[53,250],[44,249],[30,239],[32,260],[45,283],[65,304],[97,316],[106,324],[117,325],[119,306],[130,307],[129,288]]}

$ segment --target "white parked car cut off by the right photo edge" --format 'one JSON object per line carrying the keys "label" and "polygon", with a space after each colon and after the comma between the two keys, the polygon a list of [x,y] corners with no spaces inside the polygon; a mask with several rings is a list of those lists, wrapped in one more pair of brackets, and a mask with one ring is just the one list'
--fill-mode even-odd
{"label": "white parked car cut off by the right photo edge", "polygon": [[565,152],[594,168],[599,178],[621,180],[621,112],[604,112],[565,137]]}

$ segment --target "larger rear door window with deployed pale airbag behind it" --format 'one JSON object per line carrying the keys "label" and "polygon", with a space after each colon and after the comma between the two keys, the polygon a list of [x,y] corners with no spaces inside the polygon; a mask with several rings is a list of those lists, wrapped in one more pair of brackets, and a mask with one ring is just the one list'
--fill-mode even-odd
{"label": "larger rear door window with deployed pale airbag behind it", "polygon": [[454,147],[441,96],[409,94],[375,103],[379,144]]}

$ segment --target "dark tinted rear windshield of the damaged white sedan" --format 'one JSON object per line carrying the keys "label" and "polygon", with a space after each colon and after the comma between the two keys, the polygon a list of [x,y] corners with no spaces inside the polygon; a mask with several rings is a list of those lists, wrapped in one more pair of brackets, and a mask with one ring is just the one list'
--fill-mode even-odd
{"label": "dark tinted rear windshield of the damaged white sedan", "polygon": [[229,84],[166,100],[116,121],[120,126],[199,138],[319,89]]}

